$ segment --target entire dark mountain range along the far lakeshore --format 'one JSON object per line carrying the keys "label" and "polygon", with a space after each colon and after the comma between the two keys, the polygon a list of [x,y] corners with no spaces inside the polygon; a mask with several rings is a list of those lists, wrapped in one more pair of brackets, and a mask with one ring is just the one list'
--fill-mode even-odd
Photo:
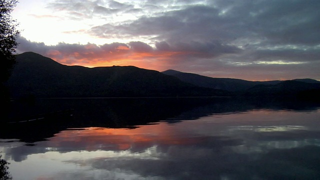
{"label": "entire dark mountain range along the far lakeshore", "polygon": [[60,64],[34,52],[16,56],[7,81],[11,97],[319,96],[314,79],[248,81],[135,66]]}

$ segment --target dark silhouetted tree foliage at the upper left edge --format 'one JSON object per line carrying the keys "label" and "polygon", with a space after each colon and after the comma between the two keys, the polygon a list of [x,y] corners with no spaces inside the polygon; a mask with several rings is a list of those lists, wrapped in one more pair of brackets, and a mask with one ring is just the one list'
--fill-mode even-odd
{"label": "dark silhouetted tree foliage at the upper left edge", "polygon": [[15,63],[16,37],[20,34],[16,29],[18,23],[11,18],[10,13],[17,0],[0,0],[0,80],[6,81]]}

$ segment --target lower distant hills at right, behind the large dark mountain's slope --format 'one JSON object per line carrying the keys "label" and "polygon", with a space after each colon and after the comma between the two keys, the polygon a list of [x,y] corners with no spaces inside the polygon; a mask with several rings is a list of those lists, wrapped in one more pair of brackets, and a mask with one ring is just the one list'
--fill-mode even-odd
{"label": "lower distant hills at right, behind the large dark mountain's slope", "polygon": [[165,70],[162,73],[198,85],[234,92],[236,95],[249,97],[301,97],[320,100],[320,81],[314,79],[248,81],[234,78],[215,78],[194,73]]}

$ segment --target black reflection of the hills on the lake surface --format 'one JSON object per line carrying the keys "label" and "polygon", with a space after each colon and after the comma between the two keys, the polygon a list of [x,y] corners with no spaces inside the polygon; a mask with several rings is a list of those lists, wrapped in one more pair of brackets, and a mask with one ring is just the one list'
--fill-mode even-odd
{"label": "black reflection of the hills on the lake surface", "polygon": [[[312,111],[318,103],[281,99],[241,98],[39,98],[12,101],[7,121],[26,121],[38,114],[44,118],[29,122],[5,123],[0,138],[24,142],[44,140],[66,128],[135,128],[158,121],[177,123],[211,114],[245,112],[252,109]],[[57,112],[69,112],[57,113]]]}

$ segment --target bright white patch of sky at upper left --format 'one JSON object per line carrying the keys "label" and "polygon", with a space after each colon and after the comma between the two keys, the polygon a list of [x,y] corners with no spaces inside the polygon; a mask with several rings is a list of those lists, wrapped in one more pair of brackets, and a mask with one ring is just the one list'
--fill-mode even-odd
{"label": "bright white patch of sky at upper left", "polygon": [[155,17],[186,5],[205,5],[205,0],[196,2],[126,0],[23,0],[17,3],[12,13],[23,27],[21,36],[46,45],[59,42],[102,45],[112,42],[147,41],[153,35],[108,35],[108,38],[92,36],[86,29],[112,24],[131,23],[141,17]]}

